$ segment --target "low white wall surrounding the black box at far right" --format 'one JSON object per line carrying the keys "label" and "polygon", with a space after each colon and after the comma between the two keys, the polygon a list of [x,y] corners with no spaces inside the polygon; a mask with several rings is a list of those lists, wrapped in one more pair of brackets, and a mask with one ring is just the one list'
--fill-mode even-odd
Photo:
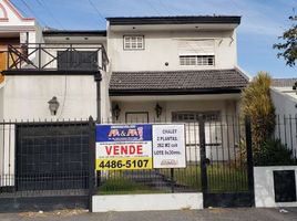
{"label": "low white wall surrounding the black box at far right", "polygon": [[297,202],[275,202],[275,170],[295,170],[297,183],[296,166],[254,167],[255,206],[257,208],[297,207]]}

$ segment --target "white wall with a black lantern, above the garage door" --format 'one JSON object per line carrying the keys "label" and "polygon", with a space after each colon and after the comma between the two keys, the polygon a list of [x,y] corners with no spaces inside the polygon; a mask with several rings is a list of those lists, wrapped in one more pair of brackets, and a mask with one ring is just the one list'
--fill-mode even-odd
{"label": "white wall with a black lantern, above the garage door", "polygon": [[[3,96],[6,120],[96,117],[94,76],[7,76]],[[48,102],[53,96],[60,103],[57,116],[49,110]]]}

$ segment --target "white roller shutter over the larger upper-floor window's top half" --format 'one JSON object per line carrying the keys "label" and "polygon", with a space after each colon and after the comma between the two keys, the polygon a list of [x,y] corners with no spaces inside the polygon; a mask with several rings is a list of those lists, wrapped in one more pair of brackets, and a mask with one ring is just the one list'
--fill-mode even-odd
{"label": "white roller shutter over the larger upper-floor window's top half", "polygon": [[180,55],[214,55],[214,40],[178,41]]}

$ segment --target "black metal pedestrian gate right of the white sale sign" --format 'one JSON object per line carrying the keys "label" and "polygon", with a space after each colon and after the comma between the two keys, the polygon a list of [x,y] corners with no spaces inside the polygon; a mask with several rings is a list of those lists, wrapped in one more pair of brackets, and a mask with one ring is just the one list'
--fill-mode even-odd
{"label": "black metal pedestrian gate right of the white sale sign", "polygon": [[253,157],[248,118],[198,119],[204,208],[254,204]]}

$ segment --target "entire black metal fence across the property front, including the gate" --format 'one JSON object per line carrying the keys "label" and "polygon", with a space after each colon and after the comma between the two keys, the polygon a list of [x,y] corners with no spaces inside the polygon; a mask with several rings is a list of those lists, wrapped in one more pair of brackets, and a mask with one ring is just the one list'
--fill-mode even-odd
{"label": "entire black metal fence across the property front, including the gate", "polygon": [[[0,203],[16,197],[90,199],[91,194],[161,192],[203,192],[206,206],[214,206],[214,200],[222,200],[218,196],[226,193],[231,200],[247,197],[250,203],[250,122],[238,116],[194,114],[176,115],[172,122],[162,124],[174,123],[185,125],[186,168],[95,172],[92,119],[1,122]],[[278,116],[274,138],[296,157],[297,117]]]}

